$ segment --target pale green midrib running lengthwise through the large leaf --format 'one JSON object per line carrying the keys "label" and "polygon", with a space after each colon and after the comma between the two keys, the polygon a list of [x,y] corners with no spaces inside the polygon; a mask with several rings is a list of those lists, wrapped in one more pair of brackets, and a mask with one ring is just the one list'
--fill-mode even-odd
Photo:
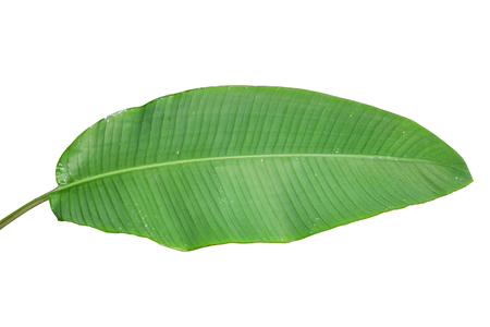
{"label": "pale green midrib running lengthwise through the large leaf", "polygon": [[233,159],[266,159],[266,158],[299,158],[299,157],[334,157],[334,158],[363,158],[363,159],[371,159],[371,160],[393,160],[393,161],[414,161],[414,162],[420,162],[420,164],[430,164],[430,165],[439,165],[439,166],[445,166],[458,169],[461,171],[466,172],[464,169],[454,167],[448,164],[442,164],[439,161],[431,161],[431,160],[425,160],[425,159],[417,159],[417,158],[402,158],[402,157],[390,157],[390,156],[369,156],[369,155],[348,155],[348,154],[270,154],[270,155],[246,155],[246,156],[225,156],[225,157],[208,157],[208,158],[198,158],[198,159],[187,159],[187,160],[177,160],[177,161],[166,161],[166,162],[159,162],[159,164],[151,164],[151,165],[144,165],[138,167],[132,167],[132,168],[125,168],[120,170],[114,170],[101,174],[96,174],[89,178],[85,178],[82,180],[77,180],[73,183],[59,186],[58,189],[53,190],[52,193],[58,193],[61,191],[64,191],[66,189],[71,189],[84,183],[89,183],[96,180],[105,179],[112,175],[123,174],[126,172],[133,172],[138,170],[145,170],[145,169],[155,169],[166,166],[173,166],[173,165],[186,165],[186,164],[195,164],[195,162],[204,162],[204,161],[218,161],[218,160],[233,160]]}

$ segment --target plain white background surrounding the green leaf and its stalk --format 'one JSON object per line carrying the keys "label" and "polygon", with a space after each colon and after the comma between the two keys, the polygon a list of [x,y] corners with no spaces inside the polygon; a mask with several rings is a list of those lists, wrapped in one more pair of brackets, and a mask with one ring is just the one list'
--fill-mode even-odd
{"label": "plain white background surrounding the green leaf and its stalk", "polygon": [[291,244],[188,253],[58,222],[46,203],[0,231],[0,325],[490,326],[486,4],[0,2],[0,217],[54,189],[58,158],[99,119],[215,85],[408,117],[475,179]]}

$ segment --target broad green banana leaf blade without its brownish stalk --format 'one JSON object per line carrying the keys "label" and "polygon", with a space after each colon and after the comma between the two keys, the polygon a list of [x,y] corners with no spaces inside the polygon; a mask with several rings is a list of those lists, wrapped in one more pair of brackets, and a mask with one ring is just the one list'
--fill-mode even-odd
{"label": "broad green banana leaf blade without its brownish stalk", "polygon": [[57,167],[59,220],[194,250],[290,242],[471,182],[406,118],[283,87],[156,99],[88,128]]}

